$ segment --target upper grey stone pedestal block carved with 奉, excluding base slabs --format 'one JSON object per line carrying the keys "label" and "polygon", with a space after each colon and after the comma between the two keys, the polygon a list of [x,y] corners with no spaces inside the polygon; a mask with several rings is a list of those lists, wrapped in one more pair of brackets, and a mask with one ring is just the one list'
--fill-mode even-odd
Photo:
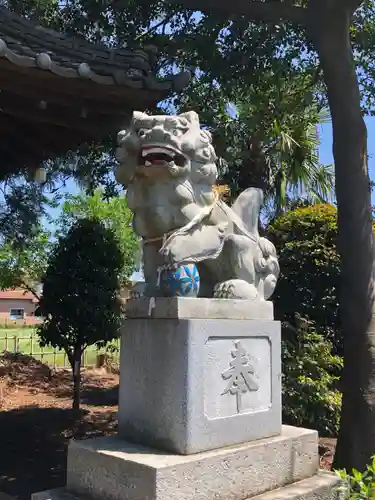
{"label": "upper grey stone pedestal block carved with \u5949, excluding base slabs", "polygon": [[[155,319],[148,300],[143,311],[134,302],[121,336],[121,437],[190,454],[280,434],[280,324],[269,303],[156,299]],[[263,319],[250,319],[257,311]]]}

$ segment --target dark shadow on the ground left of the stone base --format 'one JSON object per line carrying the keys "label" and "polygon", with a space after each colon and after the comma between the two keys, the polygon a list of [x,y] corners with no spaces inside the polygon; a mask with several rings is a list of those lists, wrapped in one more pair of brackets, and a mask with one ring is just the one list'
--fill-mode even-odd
{"label": "dark shadow on the ground left of the stone base", "polygon": [[31,493],[63,486],[70,438],[115,427],[113,413],[105,412],[27,406],[0,413],[0,491],[29,500]]}

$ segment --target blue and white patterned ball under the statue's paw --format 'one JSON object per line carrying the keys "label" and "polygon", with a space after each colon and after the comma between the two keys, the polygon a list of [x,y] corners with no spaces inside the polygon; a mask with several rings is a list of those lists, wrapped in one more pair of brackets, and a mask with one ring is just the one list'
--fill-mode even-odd
{"label": "blue and white patterned ball under the statue's paw", "polygon": [[195,264],[181,264],[167,269],[160,275],[160,290],[164,297],[197,297],[199,272]]}

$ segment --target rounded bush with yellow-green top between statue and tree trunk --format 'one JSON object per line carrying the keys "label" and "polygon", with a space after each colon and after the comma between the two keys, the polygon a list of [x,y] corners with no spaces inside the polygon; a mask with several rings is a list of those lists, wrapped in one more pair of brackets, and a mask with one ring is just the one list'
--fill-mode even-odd
{"label": "rounded bush with yellow-green top between statue and tree trunk", "polygon": [[309,318],[333,343],[334,352],[342,354],[336,208],[296,208],[274,220],[267,231],[281,268],[274,296],[276,317],[294,326],[296,312]]}

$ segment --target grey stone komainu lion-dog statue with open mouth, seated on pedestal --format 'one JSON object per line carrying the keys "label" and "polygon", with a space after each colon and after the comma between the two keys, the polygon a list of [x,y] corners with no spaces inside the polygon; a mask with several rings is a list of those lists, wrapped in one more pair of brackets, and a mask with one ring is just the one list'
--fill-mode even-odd
{"label": "grey stone komainu lion-dog statue with open mouth, seated on pedestal", "polygon": [[143,239],[145,295],[158,295],[158,272],[196,263],[201,297],[268,299],[279,265],[258,232],[263,193],[249,188],[229,207],[217,196],[217,157],[194,111],[134,112],[118,134],[117,180],[127,190]]}

